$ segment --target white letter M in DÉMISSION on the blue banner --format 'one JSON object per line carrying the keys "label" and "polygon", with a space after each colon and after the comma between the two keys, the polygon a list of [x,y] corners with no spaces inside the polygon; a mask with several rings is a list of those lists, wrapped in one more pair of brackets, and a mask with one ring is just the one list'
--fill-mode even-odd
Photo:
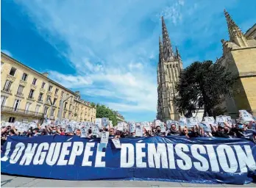
{"label": "white letter M in D\u00c9MISSION on the blue banner", "polygon": [[166,144],[164,143],[157,143],[157,149],[155,148],[154,143],[148,144],[148,160],[149,160],[149,167],[160,168],[160,159],[162,162],[162,168],[168,168],[167,162],[167,153],[166,153]]}

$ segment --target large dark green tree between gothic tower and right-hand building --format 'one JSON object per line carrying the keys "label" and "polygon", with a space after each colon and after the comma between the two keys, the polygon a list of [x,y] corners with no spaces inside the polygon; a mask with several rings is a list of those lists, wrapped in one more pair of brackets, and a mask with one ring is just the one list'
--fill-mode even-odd
{"label": "large dark green tree between gothic tower and right-hand building", "polygon": [[236,78],[218,63],[193,62],[179,75],[175,87],[178,95],[174,98],[174,104],[184,115],[191,115],[202,106],[204,116],[216,115],[223,111],[218,106],[224,100],[223,96],[232,95]]}

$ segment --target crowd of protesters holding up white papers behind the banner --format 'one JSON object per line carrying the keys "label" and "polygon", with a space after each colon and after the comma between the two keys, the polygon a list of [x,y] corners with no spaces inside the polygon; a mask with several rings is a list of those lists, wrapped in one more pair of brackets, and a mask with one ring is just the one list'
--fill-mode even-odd
{"label": "crowd of protesters holding up white papers behind the banner", "polygon": [[[187,138],[193,137],[224,137],[224,138],[246,138],[255,142],[256,131],[255,121],[249,123],[235,123],[230,125],[229,123],[210,124],[210,130],[205,130],[202,126],[196,125],[193,127],[188,126],[177,126],[172,123],[168,129],[166,123],[164,124],[164,131],[160,126],[150,126],[150,129],[142,128],[143,137],[166,137],[166,136],[181,136]],[[129,130],[120,131],[115,127],[110,128],[109,126],[99,129],[99,134],[93,134],[92,127],[86,132],[88,138],[101,137],[103,131],[109,131],[110,138],[132,138],[138,137],[135,131],[129,132]],[[27,131],[18,131],[15,126],[8,125],[1,127],[1,145],[7,140],[7,137],[11,136],[22,136],[22,137],[39,137],[44,135],[77,135],[81,136],[81,129],[75,129],[74,131],[67,131],[63,126],[54,125],[51,123],[42,128],[39,124],[37,127],[30,127]]]}

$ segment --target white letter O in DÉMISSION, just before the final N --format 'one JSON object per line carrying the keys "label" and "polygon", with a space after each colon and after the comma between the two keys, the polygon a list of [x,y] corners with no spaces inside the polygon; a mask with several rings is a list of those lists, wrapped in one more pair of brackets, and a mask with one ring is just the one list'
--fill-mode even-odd
{"label": "white letter O in D\u00c9MISSION, just before the final N", "polygon": [[[221,164],[221,168],[226,173],[235,173],[236,170],[238,170],[238,162],[235,159],[235,153],[230,145],[218,145],[216,151],[218,153],[218,161],[219,164]],[[227,154],[227,157],[225,153]],[[227,159],[230,161],[230,167],[227,163]]]}

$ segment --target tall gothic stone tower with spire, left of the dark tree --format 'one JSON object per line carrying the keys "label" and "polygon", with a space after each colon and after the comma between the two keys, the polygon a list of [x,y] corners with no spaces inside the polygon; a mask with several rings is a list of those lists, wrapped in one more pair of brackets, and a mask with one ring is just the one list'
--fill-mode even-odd
{"label": "tall gothic stone tower with spire, left of the dark tree", "polygon": [[179,112],[174,106],[175,84],[179,81],[182,71],[182,59],[176,47],[176,52],[171,47],[166,24],[162,16],[163,43],[159,38],[159,62],[157,65],[157,119],[179,120]]}

